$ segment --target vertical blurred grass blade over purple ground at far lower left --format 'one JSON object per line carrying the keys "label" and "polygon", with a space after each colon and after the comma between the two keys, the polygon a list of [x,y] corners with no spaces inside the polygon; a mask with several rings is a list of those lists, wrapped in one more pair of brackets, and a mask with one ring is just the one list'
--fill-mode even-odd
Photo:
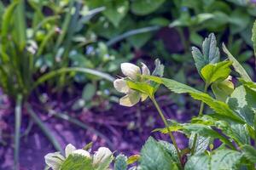
{"label": "vertical blurred grass blade over purple ground at far lower left", "polygon": [[19,169],[21,107],[22,95],[18,94],[15,105],[15,170]]}

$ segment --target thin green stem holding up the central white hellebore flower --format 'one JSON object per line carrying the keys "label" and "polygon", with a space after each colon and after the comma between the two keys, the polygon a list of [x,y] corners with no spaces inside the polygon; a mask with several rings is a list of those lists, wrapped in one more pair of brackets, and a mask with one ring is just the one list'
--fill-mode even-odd
{"label": "thin green stem holding up the central white hellebore flower", "polygon": [[172,139],[172,143],[173,143],[173,145],[174,145],[174,147],[175,147],[175,150],[177,151],[178,159],[179,159],[179,161],[181,162],[181,165],[182,165],[181,154],[180,154],[180,152],[179,152],[179,150],[178,150],[176,140],[175,140],[175,138],[174,138],[172,132],[171,132],[170,129],[169,129],[168,123],[166,122],[166,117],[164,116],[163,112],[160,110],[160,106],[158,105],[158,103],[157,103],[156,100],[154,99],[154,96],[150,97],[150,99],[153,101],[156,110],[159,112],[162,121],[165,123],[165,126],[166,126],[166,128],[167,128],[167,131],[168,131],[168,133],[169,133],[169,135],[170,135],[170,137],[171,137],[171,139]]}

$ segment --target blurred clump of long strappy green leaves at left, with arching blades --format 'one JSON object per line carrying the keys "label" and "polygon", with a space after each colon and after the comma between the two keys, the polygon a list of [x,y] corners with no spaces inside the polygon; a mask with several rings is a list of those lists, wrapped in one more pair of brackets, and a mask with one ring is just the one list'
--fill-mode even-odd
{"label": "blurred clump of long strappy green leaves at left, with arching blades", "polygon": [[[55,140],[49,129],[44,126],[44,123],[32,111],[28,99],[32,92],[49,79],[57,76],[62,78],[68,76],[73,77],[73,73],[82,72],[86,75],[93,75],[96,78],[101,77],[110,82],[113,77],[102,71],[96,71],[84,67],[68,67],[67,59],[63,59],[63,65],[55,65],[55,56],[60,56],[61,49],[65,57],[70,50],[71,37],[73,31],[67,31],[66,22],[61,27],[61,34],[59,34],[58,23],[56,20],[65,14],[67,23],[72,22],[74,18],[78,17],[80,12],[79,7],[82,3],[70,1],[64,3],[62,7],[53,3],[45,4],[44,1],[26,1],[16,0],[4,8],[1,4],[1,42],[0,42],[0,85],[4,93],[8,94],[11,99],[15,100],[15,169],[19,167],[19,145],[20,145],[20,124],[22,120],[22,107],[25,106],[30,114],[32,120],[38,124],[45,135],[49,138],[56,150],[61,150],[60,144]],[[75,7],[75,13],[70,14],[67,9]],[[42,8],[45,6],[52,8],[54,15],[46,15],[42,13]],[[26,13],[26,9],[29,12]],[[81,25],[102,9],[88,11],[84,14],[84,18],[79,20],[77,25]],[[83,22],[82,22],[82,21]],[[56,39],[56,43],[55,43]],[[54,52],[49,56],[49,51],[52,51],[52,46],[55,44]],[[47,57],[49,56],[49,57]],[[38,65],[38,61],[42,61],[44,65]],[[49,59],[49,60],[47,60]],[[51,63],[50,63],[51,62]],[[44,66],[47,67],[44,67]],[[48,68],[51,65],[50,69]],[[39,68],[38,68],[39,67]],[[42,69],[49,69],[48,72]],[[39,71],[41,70],[41,71]],[[68,75],[67,75],[68,74]]]}

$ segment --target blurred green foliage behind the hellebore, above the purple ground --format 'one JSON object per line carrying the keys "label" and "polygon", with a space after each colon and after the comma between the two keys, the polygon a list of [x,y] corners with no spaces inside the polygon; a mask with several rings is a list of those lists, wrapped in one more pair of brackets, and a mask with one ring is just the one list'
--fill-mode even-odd
{"label": "blurred green foliage behind the hellebore, above the purple ground", "polygon": [[[256,76],[254,0],[3,0],[0,15],[0,86],[16,101],[16,133],[22,105],[44,103],[45,91],[63,98],[79,90],[73,111],[108,110],[118,102],[112,81],[122,62],[152,69],[159,58],[166,77],[202,88],[190,47],[210,32]],[[188,100],[171,98],[181,108]]]}

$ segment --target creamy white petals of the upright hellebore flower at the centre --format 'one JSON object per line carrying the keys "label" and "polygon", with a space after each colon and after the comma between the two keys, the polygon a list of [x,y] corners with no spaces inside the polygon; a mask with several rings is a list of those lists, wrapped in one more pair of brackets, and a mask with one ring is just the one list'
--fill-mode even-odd
{"label": "creamy white petals of the upright hellebore flower at the centre", "polygon": [[142,69],[140,69],[137,65],[133,65],[131,63],[122,63],[121,71],[125,75],[125,78],[119,78],[113,82],[113,87],[117,91],[119,91],[120,93],[126,94],[124,97],[119,99],[119,105],[131,107],[132,105],[136,105],[140,101],[140,99],[142,101],[147,99],[148,98],[147,94],[143,94],[129,88],[125,79],[130,79],[131,81],[134,81],[134,82],[145,82],[140,76],[150,75],[148,66],[142,63]]}

